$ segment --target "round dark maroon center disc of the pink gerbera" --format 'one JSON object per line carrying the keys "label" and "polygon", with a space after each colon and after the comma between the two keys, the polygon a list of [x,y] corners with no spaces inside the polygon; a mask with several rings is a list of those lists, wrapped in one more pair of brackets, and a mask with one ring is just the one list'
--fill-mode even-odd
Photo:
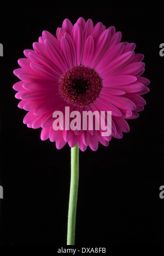
{"label": "round dark maroon center disc of the pink gerbera", "polygon": [[94,103],[101,88],[102,79],[99,74],[84,66],[68,69],[59,80],[59,92],[63,100],[79,107]]}

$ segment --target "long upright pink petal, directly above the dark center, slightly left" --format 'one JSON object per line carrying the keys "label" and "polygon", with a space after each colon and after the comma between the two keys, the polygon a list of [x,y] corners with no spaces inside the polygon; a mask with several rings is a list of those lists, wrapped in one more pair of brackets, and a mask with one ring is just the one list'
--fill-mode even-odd
{"label": "long upright pink petal, directly above the dark center, slightly left", "polygon": [[71,37],[75,46],[75,51],[77,56],[77,65],[80,65],[81,57],[83,55],[83,48],[84,48],[84,34],[81,28],[81,25],[79,23],[74,24]]}

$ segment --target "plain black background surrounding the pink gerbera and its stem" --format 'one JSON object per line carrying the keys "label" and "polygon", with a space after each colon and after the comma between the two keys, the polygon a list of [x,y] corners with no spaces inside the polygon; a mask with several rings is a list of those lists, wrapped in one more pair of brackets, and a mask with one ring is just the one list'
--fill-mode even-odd
{"label": "plain black background surrounding the pink gerbera and its stem", "polygon": [[8,1],[1,3],[1,245],[66,245],[70,148],[57,150],[41,141],[41,129],[22,123],[13,74],[24,49],[32,49],[43,30],[56,34],[68,18],[91,18],[122,32],[144,54],[144,77],[150,92],[139,118],[128,120],[130,132],[109,147],[80,152],[77,208],[78,246],[163,245],[163,6],[117,1]]}

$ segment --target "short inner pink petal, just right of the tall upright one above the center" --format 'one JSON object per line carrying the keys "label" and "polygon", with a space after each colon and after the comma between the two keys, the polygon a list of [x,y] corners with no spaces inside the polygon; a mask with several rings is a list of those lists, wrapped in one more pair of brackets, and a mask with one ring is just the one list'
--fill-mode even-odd
{"label": "short inner pink petal, just right of the tall upright one above the center", "polygon": [[84,66],[89,65],[89,62],[90,62],[90,60],[93,56],[93,53],[94,53],[94,41],[93,41],[93,38],[91,36],[89,36],[86,39],[86,43],[85,43],[85,46],[84,46],[84,52],[83,52],[83,58],[81,60],[81,63]]}

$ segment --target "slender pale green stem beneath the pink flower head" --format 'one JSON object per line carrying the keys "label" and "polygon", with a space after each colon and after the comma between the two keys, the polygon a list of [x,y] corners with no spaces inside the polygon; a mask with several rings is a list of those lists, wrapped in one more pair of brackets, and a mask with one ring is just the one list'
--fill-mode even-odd
{"label": "slender pale green stem beneath the pink flower head", "polygon": [[77,212],[79,184],[79,147],[78,144],[71,148],[71,185],[69,193],[67,245],[74,245],[75,221]]}

